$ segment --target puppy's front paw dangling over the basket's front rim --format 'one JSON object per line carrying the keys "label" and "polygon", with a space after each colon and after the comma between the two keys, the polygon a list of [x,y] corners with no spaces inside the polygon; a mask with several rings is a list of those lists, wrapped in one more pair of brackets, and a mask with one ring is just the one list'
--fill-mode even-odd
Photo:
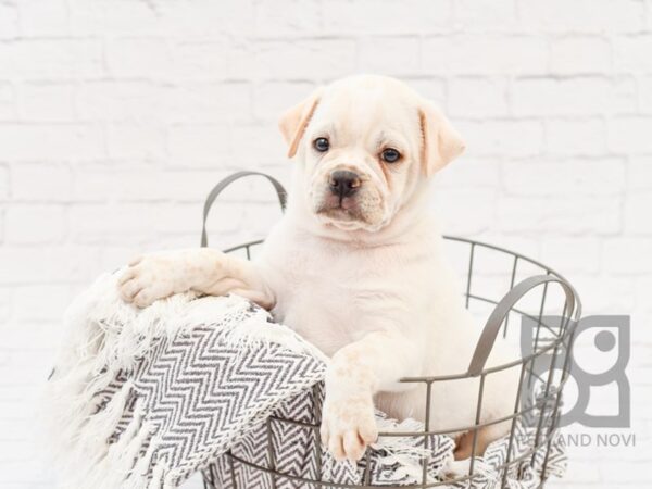
{"label": "puppy's front paw dangling over the basket's front rim", "polygon": [[322,443],[336,460],[359,461],[378,438],[372,396],[329,396],[322,411]]}

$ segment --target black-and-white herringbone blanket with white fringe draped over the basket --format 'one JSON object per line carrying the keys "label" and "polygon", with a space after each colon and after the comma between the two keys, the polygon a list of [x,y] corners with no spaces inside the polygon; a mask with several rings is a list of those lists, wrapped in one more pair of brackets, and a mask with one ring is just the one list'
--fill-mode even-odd
{"label": "black-and-white herringbone blanket with white fringe draped over the basket", "polygon": [[[360,463],[335,461],[318,439],[328,359],[266,311],[236,296],[192,293],[137,310],[118,298],[118,276],[100,277],[68,309],[41,402],[62,487],[174,488],[198,471],[208,485],[234,489],[311,487],[297,477],[344,486],[441,480],[454,449],[446,436],[384,436]],[[386,434],[424,429],[383,413],[377,423]],[[534,436],[516,425],[511,460]],[[498,440],[476,457],[471,487],[502,481],[496,467],[509,447]],[[564,468],[555,436],[548,459],[543,449],[524,457],[504,475],[506,487],[535,488]]]}

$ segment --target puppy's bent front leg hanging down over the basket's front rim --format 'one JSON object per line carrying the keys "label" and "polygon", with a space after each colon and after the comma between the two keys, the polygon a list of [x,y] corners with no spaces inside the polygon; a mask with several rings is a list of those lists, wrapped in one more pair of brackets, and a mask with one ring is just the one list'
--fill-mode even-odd
{"label": "puppy's bent front leg hanging down over the basket's front rim", "polygon": [[339,350],[326,373],[322,442],[337,459],[358,461],[378,438],[374,394],[398,390],[401,377],[418,372],[415,346],[400,333],[369,333]]}

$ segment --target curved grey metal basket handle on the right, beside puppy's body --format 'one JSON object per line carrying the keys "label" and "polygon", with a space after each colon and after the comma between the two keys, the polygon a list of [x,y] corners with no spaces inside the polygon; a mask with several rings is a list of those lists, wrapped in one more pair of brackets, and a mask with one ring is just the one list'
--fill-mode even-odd
{"label": "curved grey metal basket handle on the right, beside puppy's body", "polygon": [[471,359],[468,375],[476,377],[485,369],[485,364],[489,359],[489,354],[491,354],[500,327],[512,308],[531,289],[548,283],[557,283],[562,286],[566,296],[566,310],[575,311],[575,290],[568,283],[552,275],[535,275],[519,281],[493,308]]}

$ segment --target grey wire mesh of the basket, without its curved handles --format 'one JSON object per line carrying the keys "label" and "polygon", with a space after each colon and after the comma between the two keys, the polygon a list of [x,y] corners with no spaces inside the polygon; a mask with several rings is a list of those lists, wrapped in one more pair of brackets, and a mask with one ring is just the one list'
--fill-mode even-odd
{"label": "grey wire mesh of the basket, without its curved handles", "polygon": [[[581,306],[579,300],[577,298],[576,292],[573,287],[568,284],[568,281],[563,278],[560,274],[551,269],[550,267],[531,260],[527,256],[524,256],[519,253],[515,253],[503,248],[499,248],[492,244],[484,243],[480,241],[474,241],[471,239],[464,239],[459,237],[446,236],[444,239],[449,243],[453,243],[457,247],[464,247],[467,249],[467,261],[466,261],[466,271],[465,271],[465,300],[466,306],[472,308],[474,302],[479,302],[484,304],[490,304],[494,309],[492,310],[496,313],[497,317],[499,317],[500,329],[502,331],[502,336],[505,337],[509,331],[510,318],[512,316],[527,317],[531,322],[534,322],[535,331],[532,334],[534,344],[532,352],[530,354],[524,355],[518,360],[515,360],[511,363],[493,366],[493,367],[482,367],[477,372],[467,372],[464,374],[457,375],[444,375],[444,376],[431,376],[431,377],[410,377],[402,378],[402,383],[411,383],[411,384],[421,384],[425,386],[426,391],[426,405],[425,405],[425,423],[424,430],[419,432],[412,431],[391,431],[391,432],[380,432],[380,437],[424,437],[424,443],[428,443],[429,436],[432,435],[451,435],[460,431],[471,431],[473,432],[473,449],[472,456],[469,462],[469,471],[468,474],[460,477],[455,477],[453,479],[447,480],[438,480],[438,481],[428,481],[427,478],[427,466],[428,460],[427,457],[423,460],[423,478],[421,484],[416,485],[408,485],[401,487],[410,487],[410,488],[430,488],[430,487],[440,487],[447,486],[451,484],[459,482],[471,482],[474,477],[478,474],[474,471],[474,463],[476,453],[476,444],[477,444],[477,432],[478,429],[485,426],[489,426],[492,424],[509,422],[511,424],[509,430],[509,443],[506,451],[506,460],[504,463],[496,467],[496,469],[501,474],[500,476],[500,487],[507,487],[507,474],[510,473],[510,468],[515,466],[516,464],[521,464],[527,459],[530,459],[530,463],[534,463],[534,456],[536,453],[543,449],[546,450],[542,474],[543,480],[539,487],[543,487],[546,482],[546,468],[548,465],[548,455],[550,453],[551,443],[553,440],[553,436],[555,430],[559,427],[559,421],[561,415],[561,403],[562,403],[562,389],[566,379],[569,375],[569,359],[570,359],[570,348],[574,338],[575,324],[579,319]],[[243,253],[244,258],[251,260],[254,254],[254,249],[262,243],[262,240],[247,242],[228,250],[225,250],[230,253]],[[505,297],[512,293],[513,299],[515,301],[504,301],[505,297],[502,299],[497,299],[494,297],[487,297],[485,293],[475,291],[474,289],[474,272],[477,272],[478,266],[478,250],[491,250],[496,253],[504,254],[510,258],[512,263],[511,269],[509,271],[509,292]],[[534,267],[539,271],[538,275],[532,275],[528,279],[521,281],[516,285],[516,277],[518,276],[518,268],[523,264],[529,265],[529,267]],[[529,280],[529,281],[528,281]],[[557,285],[561,286],[562,289],[566,290],[569,293],[563,296],[563,301],[557,304],[551,304],[551,289],[552,286]],[[517,288],[522,286],[521,288]],[[527,293],[532,293],[531,291],[536,288],[541,289],[541,293],[538,299],[538,308],[536,308],[535,313],[528,313],[524,309],[518,306],[519,299],[523,299]],[[514,302],[514,303],[511,303]],[[557,298],[557,301],[559,298]],[[503,311],[503,308],[507,308]],[[556,315],[553,316],[552,313],[555,312]],[[557,324],[550,324],[550,321],[546,321],[549,317],[559,317]],[[491,321],[491,318],[490,318]],[[512,318],[512,323],[514,319]],[[489,323],[489,322],[488,322]],[[544,372],[536,372],[534,368],[535,362],[537,359],[543,358],[544,355],[550,356],[550,365]],[[486,360],[486,359],[485,359]],[[484,362],[482,362],[484,366]],[[503,416],[499,419],[492,419],[490,422],[480,423],[480,413],[482,405],[482,397],[485,391],[486,379],[491,374],[497,372],[501,372],[506,368],[519,368],[518,375],[518,385],[516,387],[515,393],[515,404],[512,414],[507,416]],[[560,372],[561,368],[561,372]],[[557,375],[555,375],[557,373]],[[476,404],[476,419],[474,425],[464,426],[464,427],[450,427],[446,429],[431,429],[430,428],[430,405],[432,402],[431,399],[431,390],[432,384],[438,381],[451,381],[456,379],[468,378],[469,376],[477,376],[479,378],[479,388],[477,396],[477,404]],[[525,389],[525,386],[531,386],[534,383],[539,381],[541,385],[541,393],[537,397],[534,402],[525,403],[522,399],[522,392],[528,391]],[[316,396],[315,396],[316,399]],[[316,408],[318,410],[318,406]],[[529,447],[529,449],[519,454],[518,456],[512,457],[513,447],[515,443],[515,435],[516,435],[516,423],[518,419],[523,421],[525,416],[532,415],[538,412],[538,418],[534,419],[536,426],[535,434],[535,443]],[[544,419],[551,419],[551,423],[544,424]],[[315,413],[315,419],[321,419],[319,413]],[[280,417],[271,417],[267,421],[267,435],[272,437],[272,424],[273,423],[288,423],[292,425],[303,426],[305,429],[313,430],[315,432],[315,455],[317,460],[317,473],[321,473],[321,461],[323,457],[324,448],[321,447],[318,442],[318,430],[319,424],[309,424],[302,423],[294,419],[285,419]],[[530,419],[531,424],[531,419]],[[371,451],[367,450],[365,456],[366,468],[363,477],[363,484],[361,485],[350,485],[350,484],[337,484],[333,481],[324,481],[324,480],[314,480],[302,478],[300,476],[293,474],[284,474],[275,468],[275,457],[274,453],[274,444],[272,442],[267,443],[268,447],[268,466],[255,465],[251,462],[243,460],[229,453],[229,465],[231,471],[231,484],[234,487],[239,487],[236,480],[236,471],[238,465],[244,465],[250,467],[251,469],[262,471],[269,475],[273,480],[273,487],[276,487],[276,484],[280,480],[286,481],[286,486],[288,482],[296,482],[294,487],[314,487],[314,488],[374,488],[374,487],[387,487],[387,486],[378,486],[372,485],[372,474],[371,468],[372,464],[369,463]],[[204,487],[209,488],[217,488],[216,486],[216,477],[215,474],[212,473],[212,468],[209,468],[204,473]],[[251,488],[247,488],[251,489]]]}

